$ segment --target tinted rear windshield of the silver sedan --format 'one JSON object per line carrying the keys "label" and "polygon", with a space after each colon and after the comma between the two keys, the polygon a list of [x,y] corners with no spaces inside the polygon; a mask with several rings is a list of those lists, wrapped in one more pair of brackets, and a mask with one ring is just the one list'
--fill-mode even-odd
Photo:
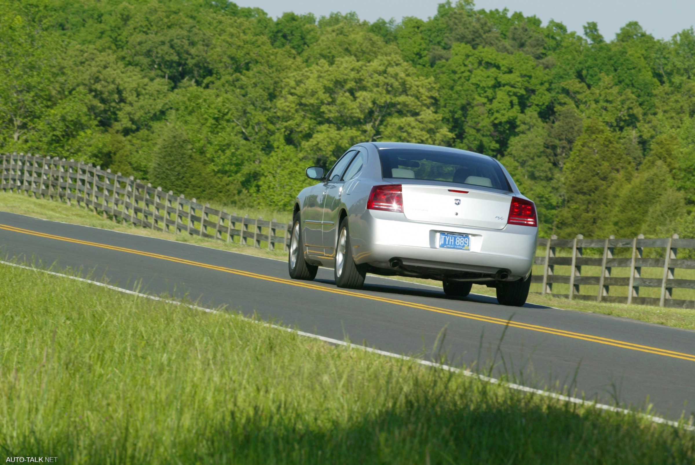
{"label": "tinted rear windshield of the silver sedan", "polygon": [[422,179],[512,190],[491,158],[423,149],[379,149],[384,178]]}

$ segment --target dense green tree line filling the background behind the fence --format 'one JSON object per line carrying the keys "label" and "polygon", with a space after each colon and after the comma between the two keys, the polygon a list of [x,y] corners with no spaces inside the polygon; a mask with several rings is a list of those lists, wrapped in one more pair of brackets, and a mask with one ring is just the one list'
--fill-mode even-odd
{"label": "dense green tree line filling the background behind the fence", "polygon": [[[398,15],[397,11],[393,12]],[[0,0],[0,151],[286,208],[363,140],[498,158],[543,234],[695,234],[695,33],[606,40],[446,2],[428,20],[209,0]]]}

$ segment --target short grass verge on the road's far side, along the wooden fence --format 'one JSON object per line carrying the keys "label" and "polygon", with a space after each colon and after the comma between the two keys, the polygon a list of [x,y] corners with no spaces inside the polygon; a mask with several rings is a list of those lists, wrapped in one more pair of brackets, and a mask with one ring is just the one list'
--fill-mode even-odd
{"label": "short grass verge on the road's far side, along the wooden fence", "polygon": [[[218,208],[219,206],[215,206]],[[229,211],[231,211],[228,208]],[[15,193],[2,193],[0,192],[0,211],[9,211],[12,213],[22,213],[23,215],[30,215],[35,218],[43,218],[45,220],[63,221],[70,222],[76,225],[85,225],[92,227],[99,227],[104,229],[112,229],[114,231],[122,231],[131,234],[140,234],[142,236],[151,236],[157,238],[163,238],[168,240],[177,240],[179,242],[191,243],[196,245],[204,245],[206,247],[215,247],[221,250],[230,250],[232,252],[240,252],[245,254],[252,254],[258,256],[265,256],[268,258],[286,259],[286,252],[281,252],[280,250],[267,250],[267,249],[257,249],[254,247],[248,247],[246,245],[240,245],[239,243],[227,243],[221,240],[211,240],[199,238],[198,236],[189,236],[188,234],[168,234],[158,231],[152,231],[151,229],[145,229],[142,227],[136,227],[133,225],[128,225],[127,223],[113,222],[107,218],[103,218],[101,215],[95,215],[92,211],[88,209],[83,209],[77,206],[68,206],[63,202],[49,202],[47,200],[35,199],[33,197],[28,197],[26,195],[15,194]],[[240,212],[243,214],[248,213],[247,211]],[[256,211],[252,212],[263,216],[263,218],[278,218],[278,220],[284,220],[282,213],[268,212],[268,211]],[[250,216],[254,216],[249,213]],[[286,213],[288,215],[288,213]],[[539,249],[539,253],[543,253],[543,249]],[[562,255],[566,251],[558,250],[558,255]],[[534,266],[534,272],[537,274],[542,274],[542,266]],[[566,269],[564,269],[566,268]],[[566,274],[569,272],[569,267],[556,267],[556,272]],[[600,272],[600,270],[594,269],[597,267],[585,266],[582,269],[582,275],[591,275]],[[614,268],[614,276],[622,276],[627,270]],[[661,272],[663,270],[660,270]],[[651,276],[651,274],[656,273],[657,270],[644,268],[643,275]],[[691,272],[693,276],[682,275],[680,273]],[[651,273],[651,274],[650,274]],[[695,279],[695,270],[678,270],[677,277],[683,279]],[[440,286],[438,282],[434,282],[427,279],[409,279],[409,278],[398,278],[405,281],[419,282],[421,284],[429,284],[434,286]],[[540,291],[540,284],[532,284],[532,291]],[[566,289],[562,286],[567,287],[567,285],[555,284],[557,293],[565,292]],[[598,291],[596,286],[582,286],[582,293],[594,293]],[[626,288],[614,288],[611,293],[619,295],[617,293],[626,291]],[[653,289],[643,288],[641,290],[641,295],[647,295],[647,293],[653,293]],[[678,293],[680,290],[674,289],[674,298],[695,298],[695,297],[683,297]],[[495,295],[495,290],[486,288],[485,286],[473,286],[473,292],[484,294],[484,295]],[[648,307],[645,305],[626,305],[626,304],[607,304],[604,302],[591,302],[586,300],[567,300],[564,298],[551,297],[550,295],[529,295],[528,302],[533,304],[547,305],[549,307],[557,307],[569,310],[578,311],[589,311],[593,313],[603,313],[605,315],[619,316],[623,318],[632,318],[635,320],[641,320],[646,323],[656,323],[659,325],[667,325],[673,327],[680,327],[684,329],[695,329],[695,310],[694,309],[668,309],[659,307]]]}

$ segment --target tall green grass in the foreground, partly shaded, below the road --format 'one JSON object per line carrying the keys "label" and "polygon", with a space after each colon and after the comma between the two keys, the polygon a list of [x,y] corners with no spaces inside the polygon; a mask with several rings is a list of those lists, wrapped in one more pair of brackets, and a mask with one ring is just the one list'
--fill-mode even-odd
{"label": "tall green grass in the foreground, partly shaded, below the road", "polygon": [[692,433],[637,415],[40,272],[0,283],[2,463],[695,460]]}

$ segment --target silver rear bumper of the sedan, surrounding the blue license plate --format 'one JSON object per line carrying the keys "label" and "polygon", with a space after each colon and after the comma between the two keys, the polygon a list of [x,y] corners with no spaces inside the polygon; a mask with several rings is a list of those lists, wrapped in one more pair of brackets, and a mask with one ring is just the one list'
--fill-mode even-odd
{"label": "silver rear bumper of the sedan, surrounding the blue license plate", "polygon": [[[459,227],[407,220],[403,213],[367,210],[350,224],[357,263],[389,269],[391,259],[403,266],[494,274],[509,271],[509,280],[526,277],[536,253],[538,228],[507,225],[504,229]],[[354,227],[353,227],[354,225]],[[438,232],[469,234],[471,250],[436,247]]]}

